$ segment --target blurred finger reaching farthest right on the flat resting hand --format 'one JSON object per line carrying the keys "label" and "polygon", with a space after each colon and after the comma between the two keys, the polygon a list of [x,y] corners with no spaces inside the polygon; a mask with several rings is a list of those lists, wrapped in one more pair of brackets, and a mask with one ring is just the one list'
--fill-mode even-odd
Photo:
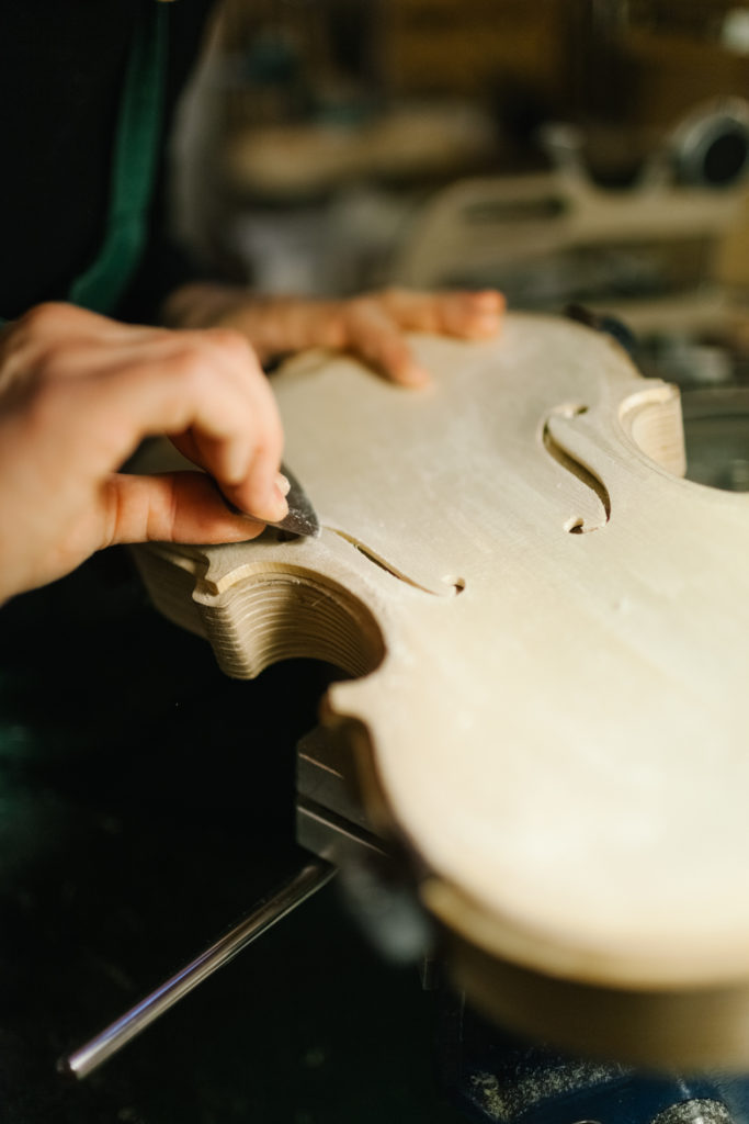
{"label": "blurred finger reaching farthest right on the flat resting hand", "polygon": [[495,336],[505,307],[504,297],[494,289],[438,293],[389,289],[382,301],[401,328],[467,339]]}

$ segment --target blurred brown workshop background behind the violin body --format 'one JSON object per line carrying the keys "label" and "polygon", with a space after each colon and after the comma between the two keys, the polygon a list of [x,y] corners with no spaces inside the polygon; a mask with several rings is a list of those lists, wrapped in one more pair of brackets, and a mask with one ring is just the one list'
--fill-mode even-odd
{"label": "blurred brown workshop background behind the violin body", "polygon": [[748,98],[729,0],[228,0],[175,224],[268,293],[495,285],[614,315],[685,391],[689,475],[743,489]]}

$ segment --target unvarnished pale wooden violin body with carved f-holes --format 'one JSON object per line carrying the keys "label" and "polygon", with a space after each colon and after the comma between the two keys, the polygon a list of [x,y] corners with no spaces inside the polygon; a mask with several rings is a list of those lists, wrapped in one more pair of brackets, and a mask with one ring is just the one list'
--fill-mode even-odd
{"label": "unvarnished pale wooden violin body with carved f-holes", "polygon": [[276,378],[314,540],[138,549],[230,676],[336,663],[323,718],[418,859],[458,981],[520,1031],[749,1066],[749,499],[682,479],[678,392],[511,315],[410,392]]}

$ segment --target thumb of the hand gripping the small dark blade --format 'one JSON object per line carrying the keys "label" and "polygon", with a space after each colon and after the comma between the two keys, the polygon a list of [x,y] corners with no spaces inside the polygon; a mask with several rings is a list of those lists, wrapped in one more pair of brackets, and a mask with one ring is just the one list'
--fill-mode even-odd
{"label": "thumb of the hand gripping the small dark blade", "polygon": [[239,543],[265,524],[234,514],[202,472],[137,477],[115,473],[102,486],[102,547],[113,543]]}

